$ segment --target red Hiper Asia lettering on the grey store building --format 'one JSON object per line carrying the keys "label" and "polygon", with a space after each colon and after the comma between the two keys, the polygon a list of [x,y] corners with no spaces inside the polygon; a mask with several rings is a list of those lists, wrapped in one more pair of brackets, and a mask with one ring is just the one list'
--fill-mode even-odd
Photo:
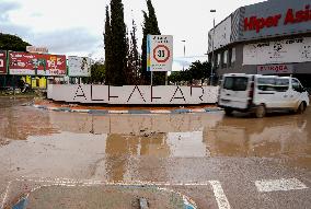
{"label": "red Hiper Asia lettering on the grey store building", "polygon": [[[260,33],[265,27],[277,27],[283,14],[270,15],[267,18],[251,16],[244,19],[244,31],[256,31]],[[311,21],[311,8],[306,5],[303,10],[295,11],[288,9],[285,14],[284,25],[296,24]]]}

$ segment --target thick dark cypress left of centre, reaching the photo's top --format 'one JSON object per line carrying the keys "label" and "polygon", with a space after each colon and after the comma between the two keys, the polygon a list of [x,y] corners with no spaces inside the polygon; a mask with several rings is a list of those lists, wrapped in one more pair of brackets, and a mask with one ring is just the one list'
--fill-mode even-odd
{"label": "thick dark cypress left of centre, reaching the photo's top", "polygon": [[112,76],[111,84],[124,85],[127,66],[126,25],[122,0],[111,0]]}

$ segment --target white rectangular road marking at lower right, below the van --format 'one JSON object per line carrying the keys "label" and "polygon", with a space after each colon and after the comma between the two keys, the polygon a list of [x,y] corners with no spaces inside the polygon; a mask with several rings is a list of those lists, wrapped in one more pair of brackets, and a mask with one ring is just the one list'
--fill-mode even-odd
{"label": "white rectangular road marking at lower right, below the van", "polygon": [[308,187],[297,178],[281,178],[269,181],[256,181],[255,185],[260,193],[270,193],[279,190],[298,190],[307,189]]}

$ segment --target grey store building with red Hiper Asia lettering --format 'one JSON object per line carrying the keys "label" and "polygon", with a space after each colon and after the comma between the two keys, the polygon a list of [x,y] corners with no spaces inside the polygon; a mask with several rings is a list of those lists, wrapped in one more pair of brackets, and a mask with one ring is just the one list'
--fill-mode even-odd
{"label": "grey store building with red Hiper Asia lettering", "polygon": [[212,51],[219,76],[293,76],[311,86],[310,0],[268,0],[239,8],[209,31],[209,60]]}

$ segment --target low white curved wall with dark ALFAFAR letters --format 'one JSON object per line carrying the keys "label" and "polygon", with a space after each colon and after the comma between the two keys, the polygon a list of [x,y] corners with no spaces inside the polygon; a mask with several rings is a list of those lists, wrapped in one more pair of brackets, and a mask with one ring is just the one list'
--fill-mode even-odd
{"label": "low white curved wall with dark ALFAFAR letters", "polygon": [[217,96],[218,86],[49,84],[47,91],[50,100],[85,104],[206,104]]}

